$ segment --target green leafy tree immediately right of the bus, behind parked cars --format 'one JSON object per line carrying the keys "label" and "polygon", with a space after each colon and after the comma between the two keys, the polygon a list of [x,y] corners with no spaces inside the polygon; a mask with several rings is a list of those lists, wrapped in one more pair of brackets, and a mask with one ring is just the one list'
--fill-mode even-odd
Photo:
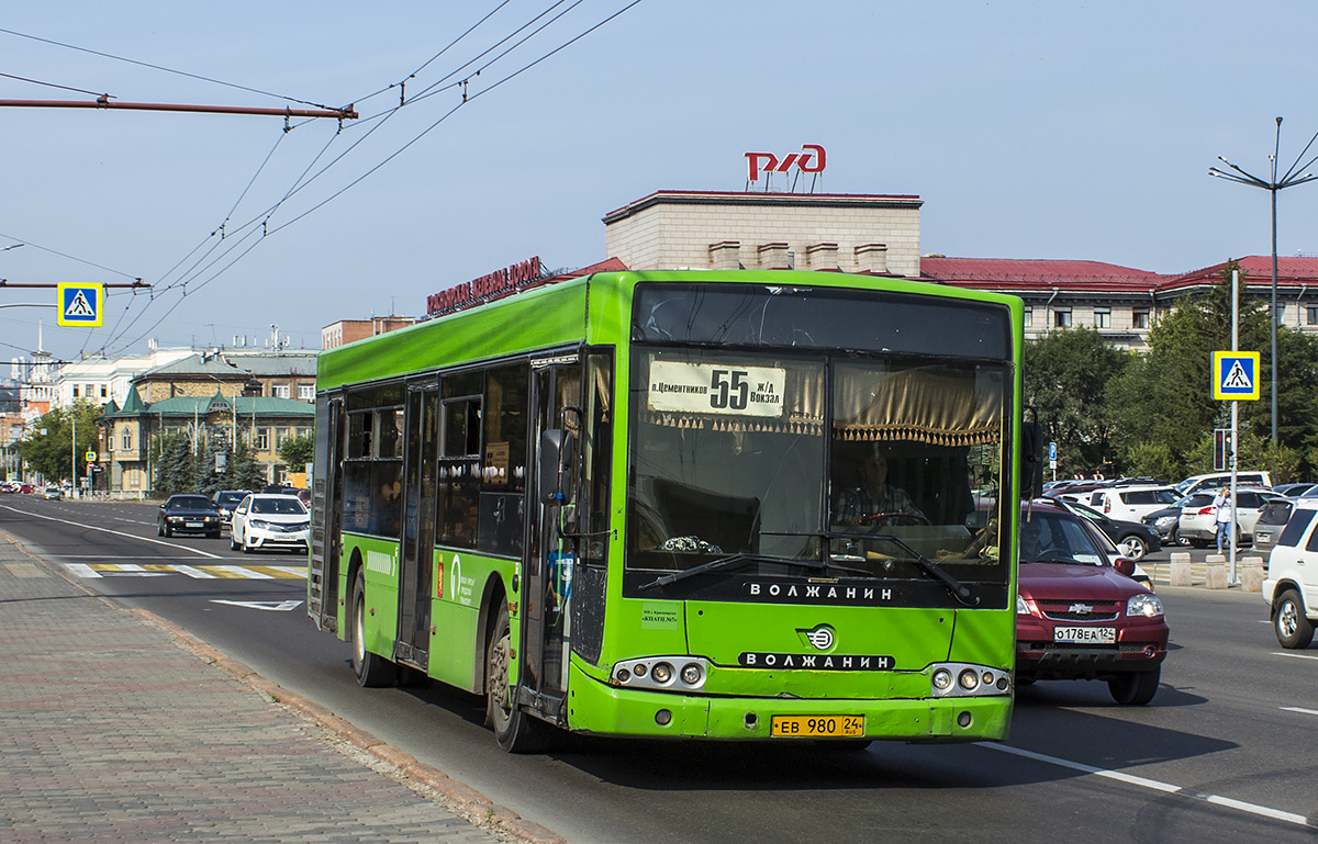
{"label": "green leafy tree immediately right of the bus, behind parked cars", "polygon": [[1045,436],[1057,444],[1064,474],[1089,473],[1108,462],[1107,383],[1130,358],[1087,328],[1049,332],[1025,345],[1025,404],[1039,412]]}

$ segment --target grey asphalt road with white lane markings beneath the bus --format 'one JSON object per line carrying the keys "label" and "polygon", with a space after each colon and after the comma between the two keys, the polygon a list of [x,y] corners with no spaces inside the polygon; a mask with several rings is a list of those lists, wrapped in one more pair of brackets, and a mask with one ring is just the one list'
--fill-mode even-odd
{"label": "grey asphalt road with white lane markings beneath the bus", "polygon": [[1004,744],[855,753],[572,739],[507,756],[478,698],[358,689],[347,645],[306,616],[299,557],[163,540],[153,516],[145,504],[0,496],[0,528],[94,589],[573,843],[1318,840],[1318,645],[1282,652],[1255,594],[1160,587],[1172,653],[1153,703],[1118,707],[1102,683],[1041,682],[1019,691]]}

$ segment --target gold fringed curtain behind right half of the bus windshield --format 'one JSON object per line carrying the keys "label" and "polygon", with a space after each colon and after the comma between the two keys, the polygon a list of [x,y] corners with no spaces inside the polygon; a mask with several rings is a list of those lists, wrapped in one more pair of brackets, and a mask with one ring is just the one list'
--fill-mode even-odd
{"label": "gold fringed curtain behind right half of the bus windshield", "polygon": [[974,445],[1002,436],[1002,383],[974,370],[840,363],[837,371],[833,427],[845,440]]}

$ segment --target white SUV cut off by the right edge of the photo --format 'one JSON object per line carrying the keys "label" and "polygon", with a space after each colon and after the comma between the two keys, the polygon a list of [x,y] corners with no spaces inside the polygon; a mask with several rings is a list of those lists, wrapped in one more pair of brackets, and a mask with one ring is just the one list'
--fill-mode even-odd
{"label": "white SUV cut off by the right edge of the photo", "polygon": [[1282,648],[1307,648],[1318,623],[1318,510],[1296,506],[1268,556],[1263,599]]}

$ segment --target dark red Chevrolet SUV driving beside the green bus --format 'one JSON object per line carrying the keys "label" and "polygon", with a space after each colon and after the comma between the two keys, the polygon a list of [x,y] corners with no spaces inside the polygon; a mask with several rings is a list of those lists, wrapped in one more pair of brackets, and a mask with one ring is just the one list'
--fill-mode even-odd
{"label": "dark red Chevrolet SUV driving beside the green bus", "polygon": [[1021,515],[1016,683],[1099,679],[1120,704],[1153,699],[1166,658],[1162,602],[1087,520],[1036,500]]}

